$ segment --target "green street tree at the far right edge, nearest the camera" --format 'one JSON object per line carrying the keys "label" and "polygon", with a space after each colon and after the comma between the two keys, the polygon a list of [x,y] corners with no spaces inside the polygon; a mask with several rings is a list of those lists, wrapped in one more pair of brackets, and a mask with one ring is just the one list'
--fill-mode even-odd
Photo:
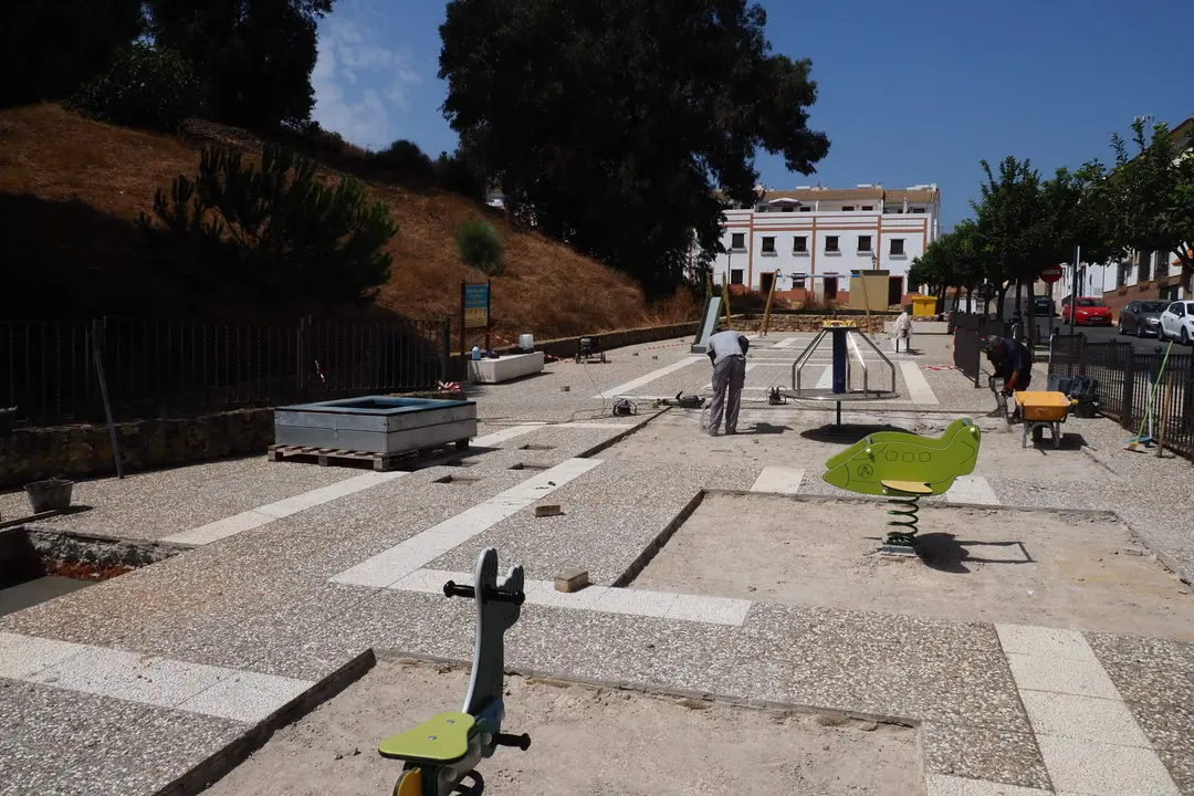
{"label": "green street tree at the far right edge, nearest the camera", "polygon": [[1108,199],[1114,240],[1137,252],[1164,252],[1177,255],[1182,284],[1187,288],[1194,272],[1194,155],[1183,150],[1164,123],[1147,119],[1132,123],[1135,154],[1127,143],[1112,136],[1115,167],[1108,179]]}

